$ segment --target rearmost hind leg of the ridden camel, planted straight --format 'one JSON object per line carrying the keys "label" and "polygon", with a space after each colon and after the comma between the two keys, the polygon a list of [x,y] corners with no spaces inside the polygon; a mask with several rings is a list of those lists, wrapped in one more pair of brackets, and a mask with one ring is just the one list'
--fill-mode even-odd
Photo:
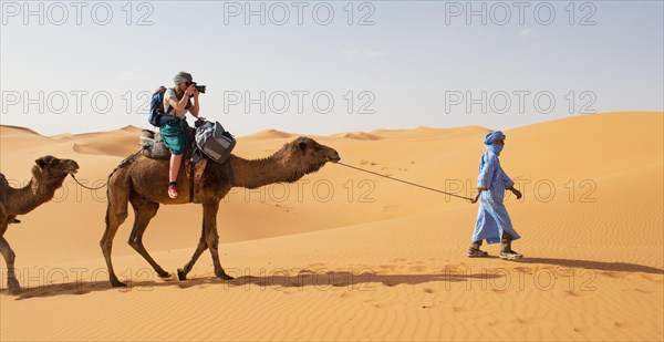
{"label": "rearmost hind leg of the ridden camel, planted straight", "polygon": [[[117,174],[115,174],[117,176]],[[113,287],[126,287],[125,283],[117,280],[113,263],[111,262],[111,250],[113,248],[113,238],[117,232],[117,228],[127,219],[127,205],[129,201],[128,184],[122,184],[114,177],[108,178],[108,205],[106,207],[106,230],[100,241],[106,267],[108,268],[108,280]]]}

